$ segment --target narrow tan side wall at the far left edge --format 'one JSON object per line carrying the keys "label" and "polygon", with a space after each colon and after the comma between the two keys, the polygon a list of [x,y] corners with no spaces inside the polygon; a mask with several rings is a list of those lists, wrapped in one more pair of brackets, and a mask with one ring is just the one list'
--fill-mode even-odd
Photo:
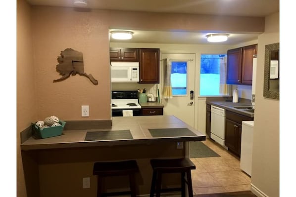
{"label": "narrow tan side wall at the far left edge", "polygon": [[25,0],[17,0],[17,193],[26,196],[20,154],[20,132],[36,120],[35,79],[32,48],[31,8]]}

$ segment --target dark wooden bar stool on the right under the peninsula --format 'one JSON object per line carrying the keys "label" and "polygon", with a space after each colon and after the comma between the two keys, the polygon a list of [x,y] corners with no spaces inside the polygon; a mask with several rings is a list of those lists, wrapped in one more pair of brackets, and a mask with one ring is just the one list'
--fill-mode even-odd
{"label": "dark wooden bar stool on the right under the peninsula", "polygon": [[[193,197],[191,170],[196,169],[196,166],[189,158],[151,159],[150,164],[153,169],[150,197],[153,197],[155,193],[156,197],[160,197],[161,193],[174,191],[181,191],[182,197],[185,197],[185,183],[188,186],[189,197]],[[161,189],[161,177],[164,173],[180,173],[181,187]]]}

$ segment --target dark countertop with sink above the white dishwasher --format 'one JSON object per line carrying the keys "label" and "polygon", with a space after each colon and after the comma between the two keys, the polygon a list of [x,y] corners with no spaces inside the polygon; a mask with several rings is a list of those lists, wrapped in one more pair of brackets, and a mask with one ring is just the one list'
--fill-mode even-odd
{"label": "dark countertop with sink above the white dishwasher", "polygon": [[209,100],[207,98],[206,104],[214,105],[214,106],[223,108],[225,110],[228,110],[228,111],[240,114],[240,115],[254,118],[254,113],[234,108],[236,106],[252,106],[251,100],[249,100],[249,99],[239,98],[238,103],[233,103],[231,101],[225,101],[224,98],[216,98],[216,99],[209,99]]}

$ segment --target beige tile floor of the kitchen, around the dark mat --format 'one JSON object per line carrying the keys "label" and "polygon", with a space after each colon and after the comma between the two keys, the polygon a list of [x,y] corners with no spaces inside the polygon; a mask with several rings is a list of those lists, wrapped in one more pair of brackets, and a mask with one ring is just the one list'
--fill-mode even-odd
{"label": "beige tile floor of the kitchen, around the dark mat", "polygon": [[191,158],[194,195],[249,191],[251,178],[240,169],[240,159],[210,139],[202,141],[221,157]]}

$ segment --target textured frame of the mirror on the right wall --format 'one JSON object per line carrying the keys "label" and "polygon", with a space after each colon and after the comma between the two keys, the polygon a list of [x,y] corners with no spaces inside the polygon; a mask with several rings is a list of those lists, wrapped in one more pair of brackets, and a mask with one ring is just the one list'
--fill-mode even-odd
{"label": "textured frame of the mirror on the right wall", "polygon": [[[265,64],[264,64],[264,89],[263,96],[266,98],[280,99],[280,91],[269,90],[269,76],[270,76],[270,51],[280,50],[280,43],[273,43],[265,45]],[[280,77],[279,77],[280,80]]]}

